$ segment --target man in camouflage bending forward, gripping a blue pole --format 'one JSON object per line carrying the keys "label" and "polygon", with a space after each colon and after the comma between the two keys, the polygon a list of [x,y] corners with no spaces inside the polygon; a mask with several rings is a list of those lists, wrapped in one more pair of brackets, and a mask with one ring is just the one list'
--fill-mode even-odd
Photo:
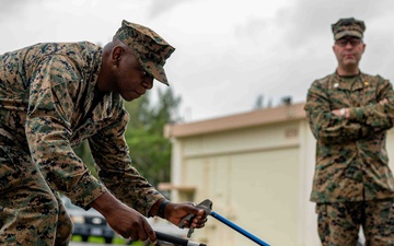
{"label": "man in camouflage bending forward, gripping a blue pole", "polygon": [[[124,21],[104,48],[33,45],[0,56],[0,245],[68,245],[72,223],[57,191],[93,207],[121,236],[155,243],[142,216],[202,227],[202,210],[164,199],[131,165],[125,140],[132,101],[167,83],[174,51],[152,30]],[[101,180],[72,148],[88,139]]]}

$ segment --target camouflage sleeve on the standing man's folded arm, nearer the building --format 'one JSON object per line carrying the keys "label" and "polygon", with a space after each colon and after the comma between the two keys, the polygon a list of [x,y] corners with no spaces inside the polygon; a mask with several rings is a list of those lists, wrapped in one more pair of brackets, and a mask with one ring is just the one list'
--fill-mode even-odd
{"label": "camouflage sleeve on the standing man's folded arm, nearer the building", "polygon": [[313,136],[323,143],[350,142],[373,132],[372,127],[333,114],[325,87],[318,81],[309,90],[304,109]]}

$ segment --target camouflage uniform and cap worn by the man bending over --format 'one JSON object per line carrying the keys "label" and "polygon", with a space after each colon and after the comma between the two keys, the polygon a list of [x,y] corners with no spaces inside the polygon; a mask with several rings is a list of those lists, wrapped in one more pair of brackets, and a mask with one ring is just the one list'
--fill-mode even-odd
{"label": "camouflage uniform and cap worn by the man bending over", "polygon": [[[152,38],[171,47],[147,30],[124,21],[117,37],[144,36],[136,38],[135,51],[148,50]],[[157,54],[163,66],[169,49]],[[108,189],[143,215],[163,198],[131,166],[124,137],[129,115],[118,93],[97,91],[101,65],[102,48],[88,42],[37,44],[0,56],[1,245],[68,245],[72,223],[57,191],[89,209]],[[161,66],[148,72],[166,82]],[[72,150],[84,139],[102,183]]]}

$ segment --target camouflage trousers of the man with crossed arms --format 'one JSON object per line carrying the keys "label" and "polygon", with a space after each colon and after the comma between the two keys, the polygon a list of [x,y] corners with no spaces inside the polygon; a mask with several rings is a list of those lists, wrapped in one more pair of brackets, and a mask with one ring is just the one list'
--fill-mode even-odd
{"label": "camouflage trousers of the man with crossed arms", "polygon": [[323,246],[356,246],[360,226],[366,246],[394,246],[394,200],[317,203]]}

